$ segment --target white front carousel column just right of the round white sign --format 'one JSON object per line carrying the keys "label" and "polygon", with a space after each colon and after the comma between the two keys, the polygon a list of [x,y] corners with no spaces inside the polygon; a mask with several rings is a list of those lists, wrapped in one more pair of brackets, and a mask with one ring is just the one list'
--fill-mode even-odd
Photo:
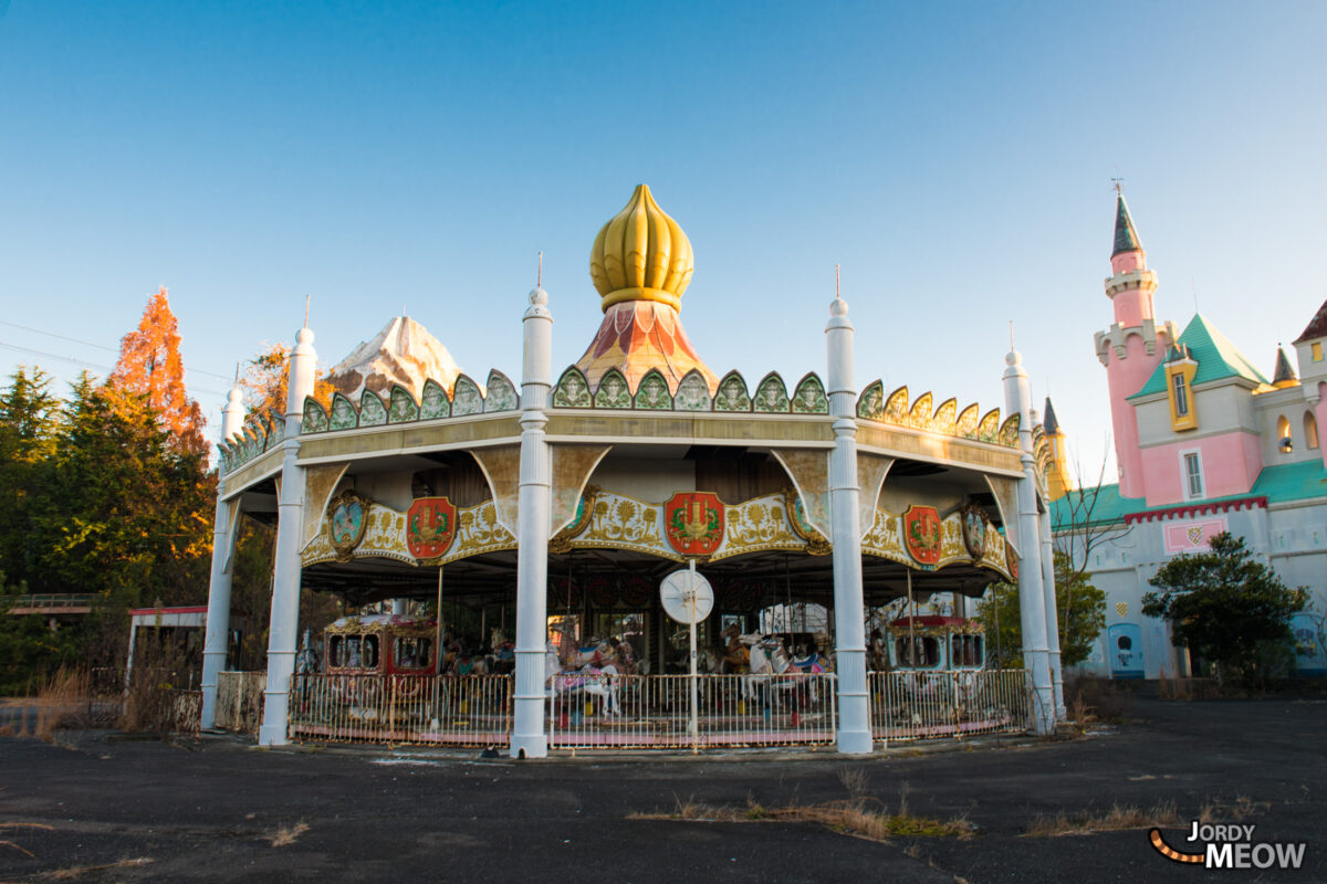
{"label": "white front carousel column just right of the round white sign", "polygon": [[857,391],[853,386],[852,322],[848,304],[829,304],[825,326],[829,414],[829,533],[833,534],[833,622],[839,679],[839,751],[869,753],[871,708],[867,692],[865,611],[861,603],[861,517],[857,501]]}

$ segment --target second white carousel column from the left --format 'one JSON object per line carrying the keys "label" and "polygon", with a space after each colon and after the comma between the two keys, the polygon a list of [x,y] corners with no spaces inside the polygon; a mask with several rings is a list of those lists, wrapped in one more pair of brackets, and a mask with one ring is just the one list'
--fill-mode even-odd
{"label": "second white carousel column from the left", "polygon": [[304,398],[313,394],[317,354],[313,333],[300,329],[291,353],[291,374],[285,398],[285,439],[281,448],[281,496],[277,501],[276,570],[272,574],[272,622],[267,643],[267,698],[263,728],[257,741],[263,746],[289,742],[285,733],[289,713],[291,675],[295,672],[295,643],[300,627],[300,527],[304,520],[304,468],[299,465],[300,428],[304,423]]}

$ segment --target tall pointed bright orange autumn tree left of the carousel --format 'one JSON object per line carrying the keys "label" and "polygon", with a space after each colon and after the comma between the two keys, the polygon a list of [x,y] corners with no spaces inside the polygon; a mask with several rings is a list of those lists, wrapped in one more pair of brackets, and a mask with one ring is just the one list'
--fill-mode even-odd
{"label": "tall pointed bright orange autumn tree left of the carousel", "polygon": [[147,300],[138,327],[119,342],[115,370],[107,386],[145,396],[162,427],[180,451],[204,455],[203,412],[184,391],[184,362],[179,355],[179,325],[166,286]]}

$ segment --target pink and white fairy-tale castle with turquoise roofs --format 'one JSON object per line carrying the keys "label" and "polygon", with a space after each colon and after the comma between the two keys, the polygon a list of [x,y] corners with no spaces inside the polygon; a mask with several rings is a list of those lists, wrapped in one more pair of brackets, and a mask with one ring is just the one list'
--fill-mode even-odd
{"label": "pink and white fairy-tale castle with turquoise roofs", "polygon": [[[1182,331],[1156,318],[1157,276],[1123,195],[1111,272],[1105,294],[1115,321],[1095,345],[1120,476],[1091,514],[1108,526],[1104,542],[1087,553],[1108,604],[1107,630],[1084,668],[1112,677],[1182,672],[1188,660],[1170,645],[1165,623],[1143,616],[1141,595],[1165,561],[1205,550],[1229,530],[1289,586],[1310,587],[1314,604],[1292,622],[1298,664],[1302,673],[1327,675],[1327,459],[1319,437],[1327,420],[1327,302],[1295,339],[1294,360],[1277,349],[1269,379],[1202,314]],[[1083,518],[1082,504],[1072,512],[1075,497],[1055,504],[1062,546]]]}

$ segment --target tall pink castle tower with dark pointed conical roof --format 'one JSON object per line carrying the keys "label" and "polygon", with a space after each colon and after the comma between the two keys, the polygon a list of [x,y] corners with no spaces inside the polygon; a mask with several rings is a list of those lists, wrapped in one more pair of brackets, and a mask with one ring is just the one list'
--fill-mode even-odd
{"label": "tall pink castle tower with dark pointed conical roof", "polygon": [[1124,193],[1116,197],[1115,249],[1105,296],[1115,307],[1115,323],[1095,335],[1096,357],[1105,366],[1111,391],[1111,424],[1115,457],[1120,468],[1120,494],[1143,497],[1143,456],[1139,449],[1139,421],[1128,398],[1148,382],[1174,341],[1174,327],[1157,326],[1152,296],[1157,274],[1148,269],[1148,253],[1129,217]]}

